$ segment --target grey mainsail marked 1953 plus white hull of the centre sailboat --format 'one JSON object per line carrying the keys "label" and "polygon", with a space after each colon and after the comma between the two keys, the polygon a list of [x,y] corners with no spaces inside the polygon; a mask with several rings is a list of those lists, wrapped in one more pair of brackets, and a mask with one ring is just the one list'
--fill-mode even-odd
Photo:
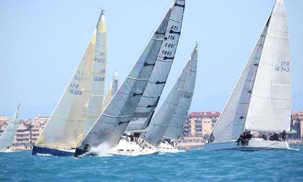
{"label": "grey mainsail marked 1953 plus white hull of the centre sailboat", "polygon": [[[143,92],[138,106],[127,125],[124,135],[115,148],[109,150],[111,154],[119,155],[141,155],[157,153],[157,148],[142,140],[139,136],[146,132],[145,129],[154,114],[160,96],[164,89],[169,74],[178,40],[181,32],[185,1],[176,0],[165,14],[162,22],[168,22],[166,32],[155,31],[156,34],[165,34],[167,40],[163,42],[163,48],[159,55],[165,55],[162,60],[156,60],[154,69]],[[166,53],[165,53],[166,52]],[[171,59],[167,59],[171,58]]]}

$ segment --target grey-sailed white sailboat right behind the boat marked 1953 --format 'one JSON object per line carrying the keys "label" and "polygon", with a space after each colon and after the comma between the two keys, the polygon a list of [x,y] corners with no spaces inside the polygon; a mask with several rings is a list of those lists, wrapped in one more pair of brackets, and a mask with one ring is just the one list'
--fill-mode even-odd
{"label": "grey-sailed white sailboat right behind the boat marked 1953", "polygon": [[180,152],[176,140],[181,136],[191,107],[197,69],[197,48],[196,44],[189,61],[142,137],[157,147],[159,152]]}

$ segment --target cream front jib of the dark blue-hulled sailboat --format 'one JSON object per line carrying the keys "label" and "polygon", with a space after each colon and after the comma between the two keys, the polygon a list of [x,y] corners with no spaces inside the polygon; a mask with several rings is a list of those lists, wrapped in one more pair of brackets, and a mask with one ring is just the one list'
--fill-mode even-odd
{"label": "cream front jib of the dark blue-hulled sailboat", "polygon": [[54,112],[40,133],[36,145],[70,149],[77,147],[82,139],[92,77],[95,39],[96,30]]}

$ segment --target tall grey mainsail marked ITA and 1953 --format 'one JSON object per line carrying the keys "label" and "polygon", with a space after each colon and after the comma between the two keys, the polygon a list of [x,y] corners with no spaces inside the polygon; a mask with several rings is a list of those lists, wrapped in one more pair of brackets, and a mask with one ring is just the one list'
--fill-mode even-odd
{"label": "tall grey mainsail marked ITA and 1953", "polygon": [[[155,34],[164,34],[164,43],[159,52],[159,58],[154,65],[145,62],[145,66],[154,66],[146,89],[138,103],[138,107],[129,122],[125,132],[145,129],[149,124],[153,111],[158,105],[160,95],[164,89],[166,79],[173,62],[181,33],[185,1],[176,0],[164,18],[167,29],[157,30]],[[167,22],[168,21],[168,22]]]}

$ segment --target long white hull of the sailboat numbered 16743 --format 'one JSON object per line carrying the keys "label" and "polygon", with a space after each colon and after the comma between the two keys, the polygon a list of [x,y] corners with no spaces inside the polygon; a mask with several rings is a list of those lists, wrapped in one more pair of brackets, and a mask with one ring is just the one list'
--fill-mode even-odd
{"label": "long white hull of the sailboat numbered 16743", "polygon": [[[260,138],[253,138],[249,140],[248,146],[237,146],[236,141],[229,142],[213,142],[205,143],[204,151],[225,151],[225,150],[237,150],[237,151],[260,151],[260,150],[296,150],[291,149],[288,146],[288,142],[283,141],[270,141]],[[241,142],[240,142],[241,144]]]}

